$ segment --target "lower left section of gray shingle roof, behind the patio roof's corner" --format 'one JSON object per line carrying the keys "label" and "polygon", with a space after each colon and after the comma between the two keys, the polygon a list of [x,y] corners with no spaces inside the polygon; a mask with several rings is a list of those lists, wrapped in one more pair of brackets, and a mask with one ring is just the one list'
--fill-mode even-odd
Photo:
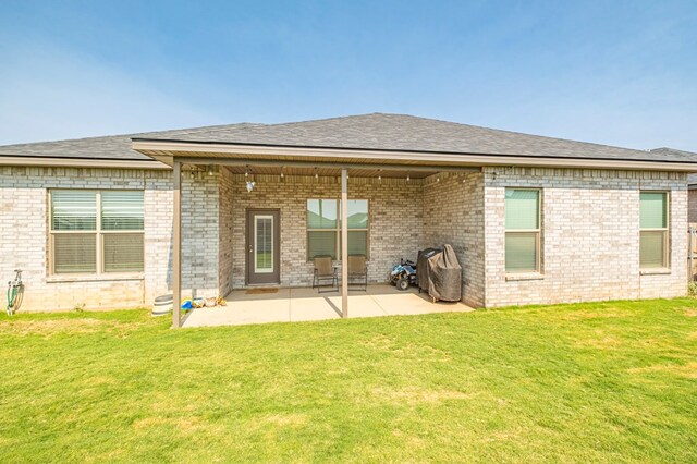
{"label": "lower left section of gray shingle roof, behind the patio roof's corner", "polygon": [[181,137],[196,131],[224,130],[248,123],[212,125],[173,131],[145,132],[139,134],[107,135],[101,137],[74,138],[69,141],[37,142],[0,146],[0,156],[23,156],[38,158],[94,158],[130,161],[152,161],[147,155],[131,149],[133,137]]}

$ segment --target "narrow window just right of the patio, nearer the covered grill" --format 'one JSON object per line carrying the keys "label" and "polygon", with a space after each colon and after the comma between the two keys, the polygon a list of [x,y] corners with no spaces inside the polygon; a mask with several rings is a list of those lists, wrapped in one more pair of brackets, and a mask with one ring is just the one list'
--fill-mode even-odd
{"label": "narrow window just right of the patio, nearer the covered grill", "polygon": [[539,190],[505,190],[505,271],[540,271]]}

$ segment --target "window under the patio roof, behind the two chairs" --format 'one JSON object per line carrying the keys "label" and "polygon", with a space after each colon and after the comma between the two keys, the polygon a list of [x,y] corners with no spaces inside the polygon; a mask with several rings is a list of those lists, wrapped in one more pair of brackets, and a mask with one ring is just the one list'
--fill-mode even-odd
{"label": "window under the patio roof, behind the two chairs", "polygon": [[[368,200],[350,199],[348,254],[368,255]],[[341,257],[341,202],[307,200],[307,258],[329,255]]]}

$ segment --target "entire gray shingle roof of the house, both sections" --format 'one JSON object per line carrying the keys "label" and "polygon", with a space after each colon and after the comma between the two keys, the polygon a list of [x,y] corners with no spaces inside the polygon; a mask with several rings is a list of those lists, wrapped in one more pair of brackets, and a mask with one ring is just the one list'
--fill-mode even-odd
{"label": "entire gray shingle roof of the house, both sections", "polygon": [[0,156],[150,160],[132,139],[696,162],[686,151],[651,151],[566,141],[406,114],[372,113],[281,124],[241,123],[0,146]]}

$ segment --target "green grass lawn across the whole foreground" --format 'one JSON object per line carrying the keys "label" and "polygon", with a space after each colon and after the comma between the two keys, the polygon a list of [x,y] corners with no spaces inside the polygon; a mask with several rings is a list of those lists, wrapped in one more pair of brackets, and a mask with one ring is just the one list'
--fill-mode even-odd
{"label": "green grass lawn across the whole foreground", "polygon": [[697,301],[0,317],[0,462],[697,462]]}

